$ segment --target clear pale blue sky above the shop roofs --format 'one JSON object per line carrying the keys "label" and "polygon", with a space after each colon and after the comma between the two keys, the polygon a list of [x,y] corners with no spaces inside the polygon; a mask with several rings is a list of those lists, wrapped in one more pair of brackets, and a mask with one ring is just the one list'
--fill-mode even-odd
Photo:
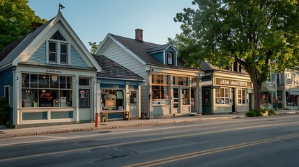
{"label": "clear pale blue sky above the shop roofs", "polygon": [[167,43],[181,33],[181,23],[174,22],[183,8],[194,8],[192,0],[29,0],[29,6],[41,18],[52,19],[62,11],[72,29],[86,47],[100,42],[107,33],[135,38],[135,29],[144,30],[144,41]]}

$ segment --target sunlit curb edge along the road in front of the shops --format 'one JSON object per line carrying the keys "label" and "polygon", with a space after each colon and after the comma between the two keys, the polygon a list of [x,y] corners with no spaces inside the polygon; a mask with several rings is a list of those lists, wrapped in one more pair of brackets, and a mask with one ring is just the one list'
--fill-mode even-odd
{"label": "sunlit curb edge along the road in front of the shops", "polygon": [[233,117],[217,117],[217,118],[193,118],[193,119],[185,119],[185,120],[167,120],[164,122],[144,122],[144,123],[132,123],[127,125],[100,125],[100,127],[85,127],[85,128],[72,128],[72,129],[55,129],[55,130],[47,130],[41,132],[24,132],[20,134],[1,134],[1,138],[15,138],[22,136],[34,136],[41,134],[61,134],[61,133],[71,133],[71,132],[85,132],[85,131],[93,131],[93,130],[101,130],[101,129],[119,129],[124,127],[144,127],[144,126],[152,126],[152,125],[166,125],[171,123],[181,123],[181,122],[199,122],[204,120],[225,120],[225,119],[236,119],[240,118],[239,116]]}

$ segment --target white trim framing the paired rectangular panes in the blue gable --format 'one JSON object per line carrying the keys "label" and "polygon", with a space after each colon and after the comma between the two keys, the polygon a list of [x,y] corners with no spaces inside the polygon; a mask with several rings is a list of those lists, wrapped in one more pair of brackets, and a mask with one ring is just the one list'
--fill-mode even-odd
{"label": "white trim framing the paired rectangular panes in the blue gable", "polygon": [[[49,42],[56,42],[56,63],[54,63],[54,62],[49,62]],[[68,45],[68,63],[61,63],[60,62],[60,44],[61,43],[66,43],[67,45]],[[57,64],[59,64],[59,65],[70,65],[70,42],[68,42],[68,41],[63,41],[63,40],[53,40],[53,39],[49,39],[49,40],[47,40],[47,42],[46,42],[46,51],[47,51],[47,60],[46,60],[46,62],[47,62],[47,64],[55,64],[55,65],[57,65]]]}

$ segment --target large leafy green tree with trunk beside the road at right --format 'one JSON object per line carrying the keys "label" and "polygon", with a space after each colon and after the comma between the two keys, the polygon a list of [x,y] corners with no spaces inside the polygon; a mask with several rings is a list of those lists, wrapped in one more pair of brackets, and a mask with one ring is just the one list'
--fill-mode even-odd
{"label": "large leafy green tree with trunk beside the road at right", "polygon": [[183,32],[171,40],[179,56],[194,67],[203,60],[218,67],[240,63],[252,80],[254,111],[259,111],[261,85],[270,78],[270,69],[298,67],[298,0],[194,0],[192,4],[198,8],[184,8],[174,18],[183,23]]}

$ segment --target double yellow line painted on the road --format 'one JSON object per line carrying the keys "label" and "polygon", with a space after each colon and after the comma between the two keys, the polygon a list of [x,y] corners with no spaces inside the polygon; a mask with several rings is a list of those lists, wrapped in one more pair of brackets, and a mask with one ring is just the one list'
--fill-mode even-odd
{"label": "double yellow line painted on the road", "polygon": [[199,152],[181,154],[181,155],[177,155],[177,156],[174,156],[174,157],[168,157],[168,158],[164,158],[164,159],[156,159],[156,160],[153,160],[153,161],[146,161],[146,162],[142,162],[142,163],[139,163],[139,164],[132,164],[132,165],[124,166],[124,167],[157,166],[157,165],[161,165],[161,164],[171,163],[171,162],[174,162],[174,161],[181,161],[181,160],[184,160],[184,159],[191,159],[191,158],[194,158],[194,157],[201,157],[201,156],[206,155],[206,154],[224,152],[224,151],[234,150],[234,149],[238,149],[238,148],[246,148],[246,147],[250,147],[252,145],[260,145],[260,144],[263,144],[263,143],[270,143],[270,142],[274,142],[274,141],[280,141],[280,140],[283,140],[283,139],[286,139],[286,138],[296,138],[296,137],[299,137],[299,134],[291,134],[291,135],[279,136],[279,137],[275,137],[275,138],[267,138],[267,139],[263,139],[263,140],[259,140],[259,141],[252,141],[252,142],[248,142],[248,143],[240,143],[240,144],[236,144],[236,145],[228,145],[228,146],[225,146],[225,147],[222,147],[222,148],[213,148],[213,149],[210,149],[210,150],[203,150],[203,151],[199,151]]}

